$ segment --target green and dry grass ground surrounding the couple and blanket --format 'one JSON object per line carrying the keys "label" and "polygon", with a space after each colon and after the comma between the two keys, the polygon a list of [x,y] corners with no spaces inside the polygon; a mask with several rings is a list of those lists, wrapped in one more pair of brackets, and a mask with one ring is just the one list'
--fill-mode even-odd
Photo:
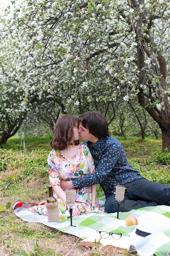
{"label": "green and dry grass ground surrounding the couple and blanket", "polygon": [[[161,140],[128,138],[122,142],[128,160],[144,177],[170,185],[170,163],[152,162],[150,155],[161,148]],[[12,137],[0,149],[0,252],[1,256],[119,256],[134,255],[115,247],[79,245],[80,238],[46,227],[27,223],[12,211],[16,201],[40,202],[48,197],[47,157],[51,135],[27,137],[24,152],[21,138]],[[21,152],[19,152],[21,150]],[[158,153],[154,153],[157,156]],[[160,154],[159,154],[160,156]],[[169,157],[169,155],[167,155]],[[102,193],[98,186],[99,193]]]}

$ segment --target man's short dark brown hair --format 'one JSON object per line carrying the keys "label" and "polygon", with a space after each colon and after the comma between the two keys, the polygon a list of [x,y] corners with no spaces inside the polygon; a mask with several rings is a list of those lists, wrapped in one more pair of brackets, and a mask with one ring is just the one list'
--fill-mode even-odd
{"label": "man's short dark brown hair", "polygon": [[89,132],[97,138],[108,135],[108,122],[99,111],[89,111],[79,116],[79,124],[88,128]]}

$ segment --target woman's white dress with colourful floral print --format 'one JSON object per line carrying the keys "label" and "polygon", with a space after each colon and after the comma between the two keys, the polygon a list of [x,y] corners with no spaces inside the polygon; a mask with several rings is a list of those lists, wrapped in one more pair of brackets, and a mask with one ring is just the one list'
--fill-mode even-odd
{"label": "woman's white dress with colourful floral print", "polygon": [[[53,149],[48,157],[49,180],[51,186],[60,186],[61,180],[73,180],[84,175],[95,172],[93,157],[88,146],[81,143],[77,146],[77,153],[73,157],[65,157],[60,150]],[[59,203],[60,218],[68,218],[70,213],[66,204],[55,193],[53,194]],[[91,209],[92,205],[91,186],[75,189],[75,204],[79,209],[80,215],[83,213],[95,212]],[[96,200],[98,206],[98,200]],[[39,205],[29,208],[35,214],[47,215],[46,207]]]}

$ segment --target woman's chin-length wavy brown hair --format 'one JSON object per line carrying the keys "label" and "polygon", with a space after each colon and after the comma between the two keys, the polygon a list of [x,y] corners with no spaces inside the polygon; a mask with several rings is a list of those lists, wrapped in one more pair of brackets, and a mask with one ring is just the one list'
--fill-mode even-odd
{"label": "woman's chin-length wavy brown hair", "polygon": [[73,128],[76,125],[77,117],[73,117],[72,115],[63,115],[62,117],[59,117],[53,130],[53,139],[50,142],[51,148],[63,150],[70,145],[78,145],[79,140],[73,140]]}

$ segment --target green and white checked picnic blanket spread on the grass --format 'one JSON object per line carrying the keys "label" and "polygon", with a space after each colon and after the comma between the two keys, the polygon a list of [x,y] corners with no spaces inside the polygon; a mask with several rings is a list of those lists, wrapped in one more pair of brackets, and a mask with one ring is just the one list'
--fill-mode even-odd
{"label": "green and white checked picnic blanket spread on the grass", "polygon": [[[26,222],[40,222],[64,233],[77,236],[82,239],[80,242],[82,245],[93,246],[95,243],[101,243],[104,246],[113,245],[127,252],[136,251],[139,256],[170,255],[169,206],[144,207],[128,212],[119,212],[119,219],[117,219],[117,213],[88,213],[73,217],[75,227],[70,226],[70,218],[62,220],[61,223],[48,222],[47,216],[35,215],[24,208],[15,209],[15,215]],[[137,218],[137,225],[126,226],[125,219],[129,215]],[[112,236],[101,238],[97,230],[119,232],[122,233],[122,236],[119,240],[114,240]],[[147,236],[145,236],[145,232],[148,233]]]}

